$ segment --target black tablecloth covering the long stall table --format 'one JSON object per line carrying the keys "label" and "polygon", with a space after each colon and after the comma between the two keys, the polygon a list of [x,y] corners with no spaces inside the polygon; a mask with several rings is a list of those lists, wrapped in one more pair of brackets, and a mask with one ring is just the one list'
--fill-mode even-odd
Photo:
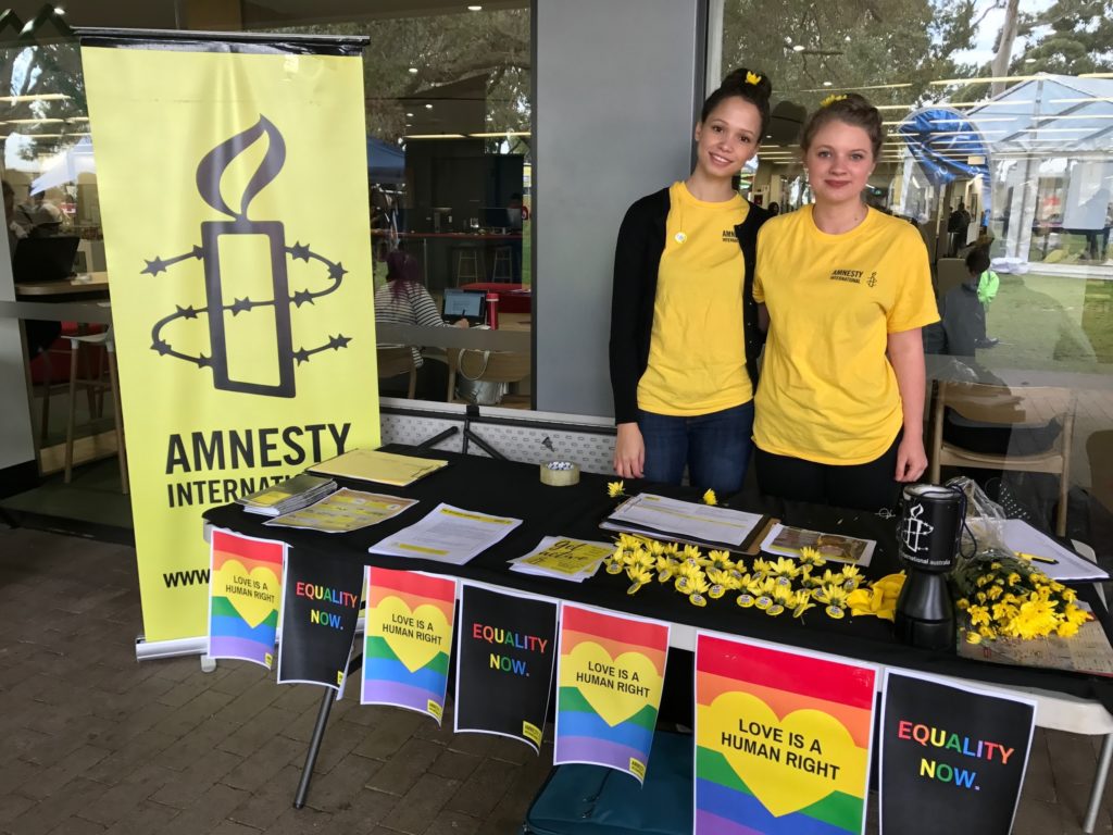
{"label": "black tablecloth covering the long stall table", "polygon": [[[315,554],[321,559],[352,560],[361,564],[384,568],[431,571],[880,665],[1002,685],[1038,687],[1096,699],[1113,711],[1113,680],[1058,670],[984,664],[959,658],[954,652],[915,649],[897,644],[893,637],[893,625],[878,618],[847,616],[841,620],[834,620],[819,607],[806,612],[800,619],[794,619],[787,612],[779,617],[770,617],[755,608],[742,609],[736,606],[735,596],[729,593],[719,600],[709,601],[705,608],[697,608],[689,603],[686,597],[673,591],[671,583],[652,582],[637,595],[628,595],[630,581],[624,574],[611,576],[602,570],[582,583],[510,571],[506,561],[529,552],[545,536],[609,539],[611,534],[600,530],[599,523],[617,504],[615,500],[607,495],[607,482],[610,479],[584,473],[577,487],[553,488],[540,482],[535,464],[495,461],[440,451],[418,452],[402,446],[388,449],[444,458],[451,462],[449,466],[408,488],[338,480],[343,487],[418,500],[417,505],[388,521],[343,534],[294,528],[267,528],[263,524],[264,517],[247,513],[238,504],[213,508],[205,513],[205,519],[214,525],[238,533],[280,539],[290,548],[302,553]],[[628,482],[627,492],[631,494],[640,492],[641,487],[643,485]],[[644,487],[653,492],[697,500],[697,495],[691,491]],[[513,517],[523,522],[502,542],[465,566],[446,566],[430,560],[383,557],[367,552],[373,543],[413,524],[442,501],[467,510]],[[787,524],[876,540],[877,550],[870,566],[864,571],[866,577],[874,579],[899,570],[896,519],[884,519],[861,511],[762,501],[756,498],[745,503],[736,499],[730,505],[751,512],[772,513]],[[1082,587],[1080,596],[1091,602],[1109,633],[1109,615],[1093,595],[1092,587]]]}

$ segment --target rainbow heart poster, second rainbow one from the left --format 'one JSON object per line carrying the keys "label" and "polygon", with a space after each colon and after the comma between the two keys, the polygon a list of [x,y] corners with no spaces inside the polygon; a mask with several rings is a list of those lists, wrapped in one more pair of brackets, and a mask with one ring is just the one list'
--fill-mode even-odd
{"label": "rainbow heart poster, second rainbow one from the left", "polygon": [[368,566],[361,704],[417,710],[440,724],[455,605],[455,580]]}

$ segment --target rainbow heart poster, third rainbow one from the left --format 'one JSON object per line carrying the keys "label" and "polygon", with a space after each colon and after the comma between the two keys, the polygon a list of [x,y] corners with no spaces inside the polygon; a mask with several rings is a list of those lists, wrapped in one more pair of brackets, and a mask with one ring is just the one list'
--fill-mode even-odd
{"label": "rainbow heart poster, third rainbow one from the left", "polygon": [[667,623],[563,605],[553,763],[607,766],[643,782],[668,650]]}

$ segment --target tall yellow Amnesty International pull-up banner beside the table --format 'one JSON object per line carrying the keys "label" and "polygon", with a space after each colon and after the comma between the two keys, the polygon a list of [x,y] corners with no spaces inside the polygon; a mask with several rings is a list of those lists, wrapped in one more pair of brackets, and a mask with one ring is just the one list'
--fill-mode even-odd
{"label": "tall yellow Amnesty International pull-up banner beside the table", "polygon": [[206,508],[378,445],[363,61],[308,51],[81,50],[147,641],[206,633]]}

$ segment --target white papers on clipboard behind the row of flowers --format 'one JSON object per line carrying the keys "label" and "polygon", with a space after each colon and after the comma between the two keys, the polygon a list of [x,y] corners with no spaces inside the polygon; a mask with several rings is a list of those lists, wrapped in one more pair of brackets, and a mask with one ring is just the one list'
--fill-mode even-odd
{"label": "white papers on clipboard behind the row of flowers", "polygon": [[674,533],[702,542],[738,547],[754,532],[762,518],[758,513],[741,510],[639,493],[620,504],[603,527],[621,530],[623,523],[629,523],[663,534]]}

